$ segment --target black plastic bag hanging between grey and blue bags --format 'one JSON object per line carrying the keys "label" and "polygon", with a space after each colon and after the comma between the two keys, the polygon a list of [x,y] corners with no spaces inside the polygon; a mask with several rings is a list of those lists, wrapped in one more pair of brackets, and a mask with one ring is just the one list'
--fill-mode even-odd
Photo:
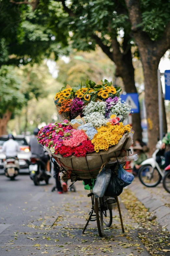
{"label": "black plastic bag hanging between grey and blue bags", "polygon": [[117,175],[112,173],[105,196],[119,196],[123,191],[124,183]]}

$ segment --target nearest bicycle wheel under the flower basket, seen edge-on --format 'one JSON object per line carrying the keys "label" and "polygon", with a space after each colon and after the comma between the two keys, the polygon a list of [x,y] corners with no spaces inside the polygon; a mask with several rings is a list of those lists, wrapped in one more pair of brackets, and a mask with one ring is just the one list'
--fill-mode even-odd
{"label": "nearest bicycle wheel under the flower basket, seen edge-on", "polygon": [[102,211],[102,198],[95,198],[95,213],[97,221],[97,229],[99,236],[103,236],[103,211]]}

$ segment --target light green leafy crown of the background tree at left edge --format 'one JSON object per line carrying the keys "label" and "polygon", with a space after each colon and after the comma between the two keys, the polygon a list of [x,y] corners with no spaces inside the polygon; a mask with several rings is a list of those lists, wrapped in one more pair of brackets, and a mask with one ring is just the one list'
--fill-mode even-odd
{"label": "light green leafy crown of the background tree at left edge", "polygon": [[21,79],[11,66],[2,66],[0,69],[0,117],[9,110],[21,108],[25,103],[21,93]]}

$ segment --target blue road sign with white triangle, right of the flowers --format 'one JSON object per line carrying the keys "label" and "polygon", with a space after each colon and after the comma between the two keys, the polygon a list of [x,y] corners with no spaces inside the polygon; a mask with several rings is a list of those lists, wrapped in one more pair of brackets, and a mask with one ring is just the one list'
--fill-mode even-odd
{"label": "blue road sign with white triangle, right of the flowers", "polygon": [[137,93],[121,94],[120,98],[124,100],[128,105],[132,106],[133,113],[139,113],[139,101]]}

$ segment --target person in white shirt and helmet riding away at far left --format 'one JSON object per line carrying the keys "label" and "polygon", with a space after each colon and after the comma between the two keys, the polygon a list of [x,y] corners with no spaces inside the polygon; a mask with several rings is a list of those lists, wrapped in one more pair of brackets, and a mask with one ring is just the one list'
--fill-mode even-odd
{"label": "person in white shirt and helmet riding away at far left", "polygon": [[16,157],[20,151],[20,146],[17,141],[14,141],[14,137],[12,134],[8,135],[8,140],[4,142],[2,146],[2,152],[6,155],[6,157]]}

